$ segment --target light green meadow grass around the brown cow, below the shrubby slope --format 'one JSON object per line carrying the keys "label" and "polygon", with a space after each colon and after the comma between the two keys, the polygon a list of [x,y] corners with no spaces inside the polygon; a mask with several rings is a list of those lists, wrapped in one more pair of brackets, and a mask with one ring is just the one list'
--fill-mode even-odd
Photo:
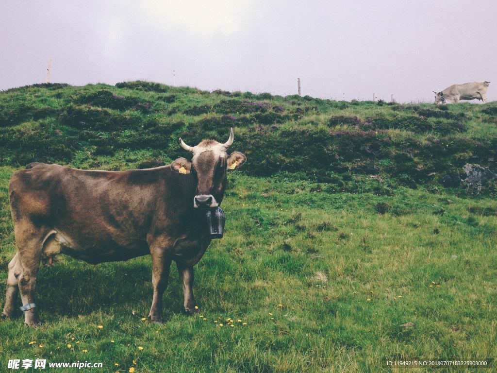
{"label": "light green meadow grass around the brown cow, below the shrubby slope", "polygon": [[[1,173],[8,259],[11,171]],[[87,360],[108,372],[128,371],[133,360],[136,372],[379,372],[388,359],[496,356],[497,217],[469,212],[495,208],[493,200],[409,188],[331,194],[238,173],[230,184],[225,238],[195,268],[206,321],[181,313],[175,271],[166,322],[141,320],[152,299],[150,257],[97,266],[64,257],[40,270],[45,324],[0,323],[0,360]],[[395,214],[377,213],[378,202]]]}

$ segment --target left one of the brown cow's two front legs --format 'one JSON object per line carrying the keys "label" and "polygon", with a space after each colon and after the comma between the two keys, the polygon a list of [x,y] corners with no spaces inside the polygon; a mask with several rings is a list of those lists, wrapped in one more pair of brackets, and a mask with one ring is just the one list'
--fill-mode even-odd
{"label": "left one of the brown cow's two front legs", "polygon": [[171,260],[165,258],[163,253],[152,252],[152,284],[154,285],[154,297],[150,307],[149,318],[153,322],[162,322],[162,296],[169,280],[169,268]]}

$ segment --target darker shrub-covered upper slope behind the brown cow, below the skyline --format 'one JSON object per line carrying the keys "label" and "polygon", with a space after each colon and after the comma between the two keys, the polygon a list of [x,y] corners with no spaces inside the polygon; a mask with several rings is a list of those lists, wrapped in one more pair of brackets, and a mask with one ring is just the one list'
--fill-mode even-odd
{"label": "darker shrub-covered upper slope behind the brown cow, below the skyline", "polygon": [[438,188],[466,162],[496,169],[497,103],[346,102],[145,82],[0,93],[0,164],[148,167],[182,155],[179,136],[196,144],[224,139],[230,127],[248,155],[247,175],[291,175],[331,191],[372,190],[368,175],[384,187]]}

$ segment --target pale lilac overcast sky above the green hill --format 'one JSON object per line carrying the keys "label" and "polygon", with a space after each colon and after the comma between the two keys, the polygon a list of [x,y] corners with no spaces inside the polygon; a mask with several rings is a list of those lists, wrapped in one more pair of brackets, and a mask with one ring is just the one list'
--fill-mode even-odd
{"label": "pale lilac overcast sky above the green hill", "polygon": [[[0,0],[0,90],[147,80],[203,90],[432,101],[490,81],[497,1]],[[476,101],[473,101],[476,102]]]}

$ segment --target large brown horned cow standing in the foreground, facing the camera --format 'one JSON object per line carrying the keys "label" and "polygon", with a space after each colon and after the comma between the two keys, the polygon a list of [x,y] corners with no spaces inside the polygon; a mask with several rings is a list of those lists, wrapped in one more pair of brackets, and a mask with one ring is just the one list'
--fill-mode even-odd
{"label": "large brown horned cow standing in the foreground, facing the camera", "polygon": [[169,267],[176,262],[184,308],[195,312],[193,266],[210,244],[205,210],[218,206],[227,170],[244,154],[226,153],[233,143],[203,140],[191,162],[178,158],[147,170],[88,171],[32,163],[10,178],[9,199],[17,253],[8,266],[2,315],[11,317],[20,290],[24,323],[38,324],[34,289],[40,261],[64,253],[96,264],[152,255],[154,296],[149,317],[162,321]]}

